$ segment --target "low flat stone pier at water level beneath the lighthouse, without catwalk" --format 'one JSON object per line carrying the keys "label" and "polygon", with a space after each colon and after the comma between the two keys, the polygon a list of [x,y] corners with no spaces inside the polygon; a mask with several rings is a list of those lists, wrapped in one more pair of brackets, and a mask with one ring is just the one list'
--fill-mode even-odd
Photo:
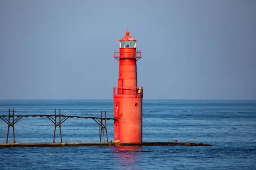
{"label": "low flat stone pier at water level beneath the lighthouse, without catwalk", "polygon": [[212,146],[211,144],[192,142],[142,142],[142,143],[117,143],[117,142],[79,142],[79,143],[0,143],[0,147],[78,147],[78,146]]}

